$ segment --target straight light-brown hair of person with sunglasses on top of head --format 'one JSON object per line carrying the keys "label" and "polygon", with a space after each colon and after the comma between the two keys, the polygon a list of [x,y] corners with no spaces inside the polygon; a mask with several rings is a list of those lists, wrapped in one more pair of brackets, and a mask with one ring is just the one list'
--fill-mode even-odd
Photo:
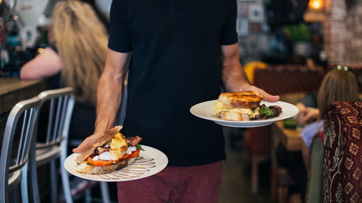
{"label": "straight light-brown hair of person with sunglasses on top of head", "polygon": [[355,102],[358,100],[357,79],[349,70],[333,69],[323,78],[317,95],[319,119],[323,120],[325,109],[337,101]]}

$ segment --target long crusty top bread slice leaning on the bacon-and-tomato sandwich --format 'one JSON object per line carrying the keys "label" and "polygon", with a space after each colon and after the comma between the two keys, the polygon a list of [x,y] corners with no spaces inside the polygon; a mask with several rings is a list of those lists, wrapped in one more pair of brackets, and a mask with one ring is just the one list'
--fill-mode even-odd
{"label": "long crusty top bread slice leaning on the bacon-and-tomato sandwich", "polygon": [[83,161],[87,160],[90,155],[94,155],[94,150],[97,147],[102,147],[112,139],[112,137],[119,132],[123,127],[122,126],[115,126],[114,128],[108,130],[106,134],[104,134],[97,142],[95,142],[92,146],[90,146],[87,150],[85,150],[82,154],[76,157],[74,161],[77,164],[81,164]]}

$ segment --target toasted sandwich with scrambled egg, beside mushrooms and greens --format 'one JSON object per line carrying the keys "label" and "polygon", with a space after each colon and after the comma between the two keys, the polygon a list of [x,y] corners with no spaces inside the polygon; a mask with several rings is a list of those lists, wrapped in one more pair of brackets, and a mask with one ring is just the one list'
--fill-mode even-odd
{"label": "toasted sandwich with scrambled egg, beside mushrooms and greens", "polygon": [[260,115],[258,107],[263,96],[257,91],[224,92],[215,103],[215,115],[223,120],[249,121]]}

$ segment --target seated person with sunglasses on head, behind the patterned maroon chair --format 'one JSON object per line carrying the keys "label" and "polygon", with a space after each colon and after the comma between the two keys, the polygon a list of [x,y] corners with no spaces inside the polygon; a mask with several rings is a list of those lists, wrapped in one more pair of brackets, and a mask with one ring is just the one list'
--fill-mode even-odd
{"label": "seated person with sunglasses on head, behind the patterned maroon chair", "polygon": [[[358,84],[354,74],[348,69],[333,69],[323,78],[317,94],[318,111],[310,113],[317,120],[305,126],[302,132],[304,145],[302,155],[304,164],[308,170],[309,148],[312,138],[318,132],[323,131],[323,117],[329,104],[337,101],[354,102],[358,100]],[[317,113],[317,115],[316,115]]]}

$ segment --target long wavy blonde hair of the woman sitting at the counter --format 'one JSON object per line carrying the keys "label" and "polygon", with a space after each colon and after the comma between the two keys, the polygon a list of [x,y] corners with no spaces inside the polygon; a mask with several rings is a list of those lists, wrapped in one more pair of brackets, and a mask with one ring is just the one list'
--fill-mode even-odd
{"label": "long wavy blonde hair of the woman sitting at the counter", "polygon": [[52,13],[53,37],[62,61],[62,84],[76,90],[77,101],[96,105],[108,34],[92,7],[77,0],[59,1]]}

